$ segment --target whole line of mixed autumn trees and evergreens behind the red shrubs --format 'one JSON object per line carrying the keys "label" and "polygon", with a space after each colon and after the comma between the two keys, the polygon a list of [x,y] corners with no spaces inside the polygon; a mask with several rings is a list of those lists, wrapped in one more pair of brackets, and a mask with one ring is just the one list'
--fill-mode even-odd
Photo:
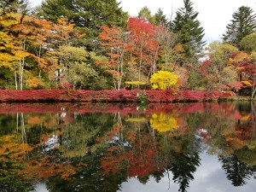
{"label": "whole line of mixed autumn trees and evergreens behind the red shrubs", "polygon": [[183,1],[174,20],[147,7],[129,17],[116,0],[0,2],[0,88],[256,91],[256,15],[240,7],[222,42]]}

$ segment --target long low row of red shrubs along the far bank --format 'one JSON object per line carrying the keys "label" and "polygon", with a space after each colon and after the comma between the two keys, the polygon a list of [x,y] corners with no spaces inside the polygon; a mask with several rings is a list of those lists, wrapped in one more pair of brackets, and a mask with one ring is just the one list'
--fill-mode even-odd
{"label": "long low row of red shrubs along the far bank", "polygon": [[201,102],[235,96],[194,90],[0,90],[0,102]]}

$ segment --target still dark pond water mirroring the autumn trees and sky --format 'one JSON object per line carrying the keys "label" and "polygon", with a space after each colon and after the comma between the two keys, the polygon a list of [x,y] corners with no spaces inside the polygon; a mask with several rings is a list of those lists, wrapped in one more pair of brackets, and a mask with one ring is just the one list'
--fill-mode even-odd
{"label": "still dark pond water mirroring the autumn trees and sky", "polygon": [[255,103],[0,104],[0,192],[252,192]]}

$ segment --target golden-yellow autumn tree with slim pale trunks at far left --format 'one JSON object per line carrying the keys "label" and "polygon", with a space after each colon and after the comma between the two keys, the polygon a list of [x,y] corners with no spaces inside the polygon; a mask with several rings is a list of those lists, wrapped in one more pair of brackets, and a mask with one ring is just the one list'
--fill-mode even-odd
{"label": "golden-yellow autumn tree with slim pale trunks at far left", "polygon": [[22,90],[25,58],[31,56],[27,51],[27,41],[35,26],[32,18],[9,12],[0,16],[0,67],[7,67],[15,73],[15,88],[18,90],[18,75],[20,90]]}

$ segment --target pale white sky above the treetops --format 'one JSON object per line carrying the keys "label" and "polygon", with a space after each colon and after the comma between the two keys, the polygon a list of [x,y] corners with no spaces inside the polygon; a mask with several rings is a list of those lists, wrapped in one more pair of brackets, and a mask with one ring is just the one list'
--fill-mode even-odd
{"label": "pale white sky above the treetops", "polygon": [[[120,1],[120,0],[117,0]],[[32,5],[38,5],[42,0],[30,0]],[[197,20],[205,29],[207,42],[221,40],[227,24],[237,9],[248,6],[256,14],[256,0],[191,0],[195,11],[199,12]],[[157,9],[162,9],[167,18],[175,18],[176,11],[183,7],[183,0],[121,0],[120,6],[129,15],[136,16],[144,6],[151,10],[152,15]]]}

